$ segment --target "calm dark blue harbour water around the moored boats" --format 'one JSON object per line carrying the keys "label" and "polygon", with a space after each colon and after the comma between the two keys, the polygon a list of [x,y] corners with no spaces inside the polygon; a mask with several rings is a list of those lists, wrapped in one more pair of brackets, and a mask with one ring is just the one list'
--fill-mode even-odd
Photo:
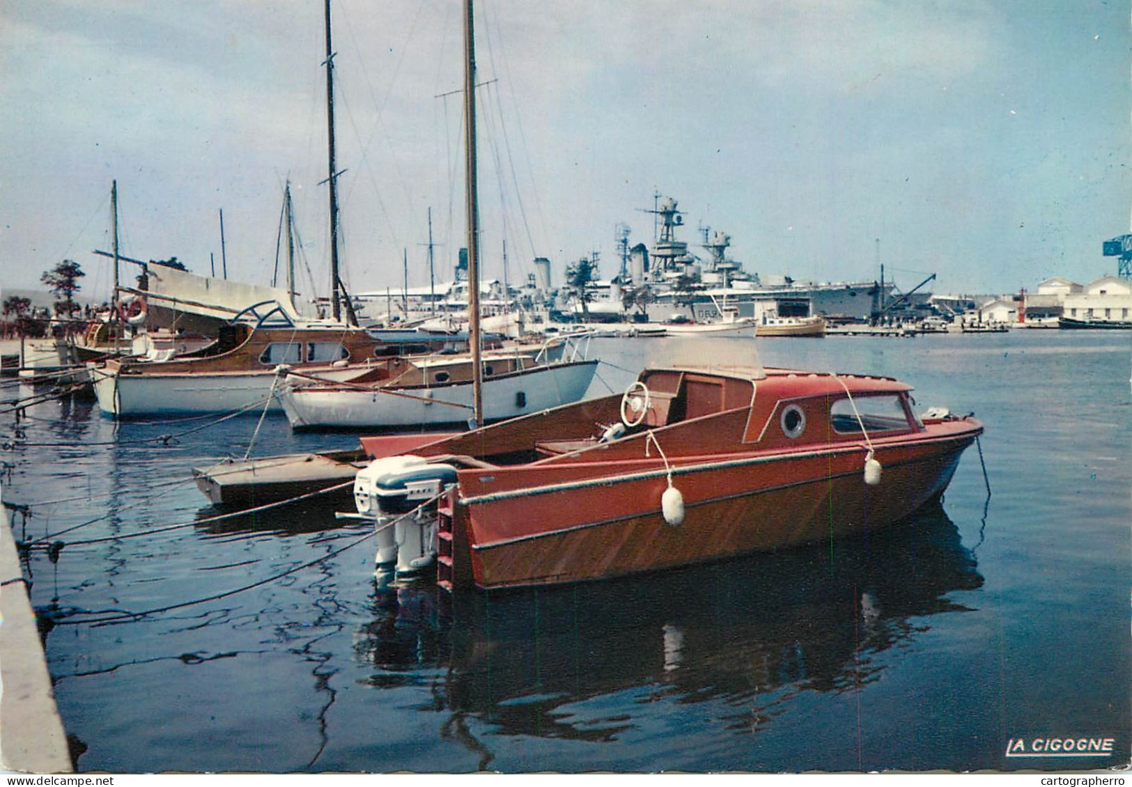
{"label": "calm dark blue harbour water around the moored boats", "polygon": [[[597,345],[612,365],[595,388],[623,388],[659,341]],[[35,504],[17,534],[67,542],[28,568],[79,769],[1126,763],[1132,335],[779,339],[761,352],[899,377],[921,410],[975,411],[989,501],[972,446],[942,506],[867,539],[449,601],[378,584],[372,541],[346,548],[366,528],[333,507],[199,522],[216,512],[189,468],[242,456],[256,418],[115,425],[50,402],[17,436],[3,416],[5,499]],[[268,418],[254,455],[354,442]],[[1038,736],[1112,737],[1117,753],[1004,758]]]}

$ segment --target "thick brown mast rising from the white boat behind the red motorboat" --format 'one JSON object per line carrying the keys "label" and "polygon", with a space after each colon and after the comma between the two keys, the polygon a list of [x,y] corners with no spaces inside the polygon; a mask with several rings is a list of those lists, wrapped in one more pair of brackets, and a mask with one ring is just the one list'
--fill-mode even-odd
{"label": "thick brown mast rising from the white boat behind the red motorboat", "polygon": [[468,213],[468,334],[472,345],[472,412],[483,426],[480,347],[480,228],[475,166],[475,35],[472,0],[464,3],[464,196]]}

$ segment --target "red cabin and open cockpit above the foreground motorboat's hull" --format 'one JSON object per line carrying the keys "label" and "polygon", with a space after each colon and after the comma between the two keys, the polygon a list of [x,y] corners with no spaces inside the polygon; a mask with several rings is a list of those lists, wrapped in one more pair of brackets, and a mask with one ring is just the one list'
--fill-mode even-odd
{"label": "red cabin and open cockpit above the foreground motorboat's hull", "polygon": [[[464,456],[473,464],[590,463],[808,451],[924,431],[911,387],[887,377],[789,369],[653,368],[612,394],[484,427],[414,453]],[[624,426],[629,425],[629,426]],[[367,447],[388,455],[380,438]]]}

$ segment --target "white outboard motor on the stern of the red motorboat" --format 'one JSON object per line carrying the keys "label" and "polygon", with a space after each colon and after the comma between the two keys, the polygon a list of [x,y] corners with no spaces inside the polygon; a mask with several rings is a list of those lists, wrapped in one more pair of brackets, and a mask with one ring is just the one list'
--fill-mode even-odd
{"label": "white outboard motor on the stern of the red motorboat", "polygon": [[[429,464],[423,456],[385,456],[374,460],[354,478],[354,505],[378,528],[375,562],[396,562],[397,573],[419,571],[436,559],[436,516],[432,511],[410,513],[421,502],[456,482],[451,464]],[[392,528],[388,522],[401,517]]]}

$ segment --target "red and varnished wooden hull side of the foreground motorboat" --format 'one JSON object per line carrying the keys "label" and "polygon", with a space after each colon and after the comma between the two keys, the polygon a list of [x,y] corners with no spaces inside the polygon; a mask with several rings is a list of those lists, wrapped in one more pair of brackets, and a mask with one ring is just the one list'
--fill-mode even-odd
{"label": "red and varnished wooden hull side of the foreground motorboat", "polygon": [[[859,446],[712,457],[674,468],[686,519],[666,523],[662,464],[462,471],[452,529],[482,589],[608,579],[868,532],[937,497],[972,421],[877,442],[883,479],[865,487]],[[729,465],[729,467],[728,467]],[[521,478],[509,478],[515,471]],[[554,490],[555,485],[561,488]]]}

